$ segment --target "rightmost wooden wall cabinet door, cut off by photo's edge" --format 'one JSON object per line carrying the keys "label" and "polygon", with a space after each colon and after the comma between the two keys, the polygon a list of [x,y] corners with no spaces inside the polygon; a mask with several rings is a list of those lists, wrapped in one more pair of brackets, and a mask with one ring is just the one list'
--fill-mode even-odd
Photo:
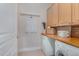
{"label": "rightmost wooden wall cabinet door, cut off by photo's edge", "polygon": [[79,25],[79,4],[72,4],[72,25]]}

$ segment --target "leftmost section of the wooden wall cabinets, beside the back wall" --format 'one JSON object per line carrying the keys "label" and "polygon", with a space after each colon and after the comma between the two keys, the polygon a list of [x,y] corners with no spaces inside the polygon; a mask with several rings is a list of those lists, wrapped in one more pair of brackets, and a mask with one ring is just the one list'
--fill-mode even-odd
{"label": "leftmost section of the wooden wall cabinets, beside the back wall", "polygon": [[58,25],[58,4],[53,4],[48,9],[48,26],[57,26]]}

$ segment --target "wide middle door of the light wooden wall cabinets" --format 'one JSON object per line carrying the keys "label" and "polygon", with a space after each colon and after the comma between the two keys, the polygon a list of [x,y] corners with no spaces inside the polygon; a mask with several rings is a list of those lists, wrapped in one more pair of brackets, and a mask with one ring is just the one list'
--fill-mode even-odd
{"label": "wide middle door of the light wooden wall cabinets", "polygon": [[59,8],[59,25],[70,25],[71,24],[71,4],[61,3],[58,5]]}

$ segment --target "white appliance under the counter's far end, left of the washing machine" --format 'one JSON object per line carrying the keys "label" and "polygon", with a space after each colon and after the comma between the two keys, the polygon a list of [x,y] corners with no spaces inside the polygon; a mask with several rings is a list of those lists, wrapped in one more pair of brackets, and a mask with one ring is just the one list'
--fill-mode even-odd
{"label": "white appliance under the counter's far end, left of the washing machine", "polygon": [[55,55],[55,40],[42,35],[42,50],[46,56]]}

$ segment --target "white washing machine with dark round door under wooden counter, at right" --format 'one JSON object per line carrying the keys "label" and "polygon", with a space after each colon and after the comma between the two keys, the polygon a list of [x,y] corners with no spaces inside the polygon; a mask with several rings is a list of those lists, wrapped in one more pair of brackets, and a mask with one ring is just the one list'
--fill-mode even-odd
{"label": "white washing machine with dark round door under wooden counter, at right", "polygon": [[55,55],[56,56],[79,56],[79,48],[56,40]]}

